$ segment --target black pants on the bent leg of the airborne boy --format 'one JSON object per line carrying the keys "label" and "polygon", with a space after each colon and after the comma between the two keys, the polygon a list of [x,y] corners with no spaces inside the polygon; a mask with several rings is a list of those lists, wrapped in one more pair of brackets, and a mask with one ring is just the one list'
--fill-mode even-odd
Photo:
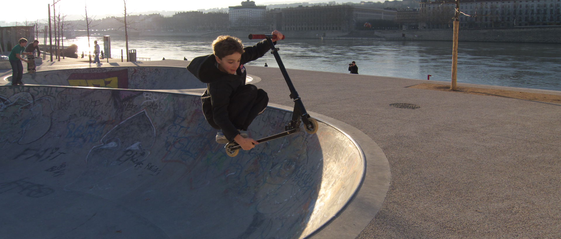
{"label": "black pants on the bent leg of the airborne boy", "polygon": [[236,128],[247,130],[257,114],[267,107],[267,103],[269,96],[263,89],[251,84],[244,85],[230,99],[229,118]]}

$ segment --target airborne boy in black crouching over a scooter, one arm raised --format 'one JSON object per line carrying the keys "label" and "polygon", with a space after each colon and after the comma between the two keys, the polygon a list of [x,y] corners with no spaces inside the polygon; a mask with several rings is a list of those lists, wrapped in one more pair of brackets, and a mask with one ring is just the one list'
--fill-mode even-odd
{"label": "airborne boy in black crouching over a scooter, one arm raised", "polygon": [[[282,39],[283,35],[275,30],[272,33]],[[275,43],[276,44],[276,43]],[[257,141],[240,131],[263,113],[269,97],[263,89],[245,84],[245,63],[263,57],[270,49],[266,40],[252,47],[243,47],[240,39],[233,36],[218,36],[212,43],[213,54],[193,59],[187,66],[197,79],[208,84],[203,101],[203,114],[210,126],[216,128],[216,141],[227,144],[236,141],[243,150],[255,147]]]}

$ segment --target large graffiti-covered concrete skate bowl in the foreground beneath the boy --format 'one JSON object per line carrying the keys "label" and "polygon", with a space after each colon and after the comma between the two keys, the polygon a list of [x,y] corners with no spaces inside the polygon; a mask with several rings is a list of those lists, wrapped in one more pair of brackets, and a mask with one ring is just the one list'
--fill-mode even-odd
{"label": "large graffiti-covered concrete skate bowl in the foreground beneath the boy", "polygon": [[[328,238],[319,229],[337,223],[358,235],[389,186],[357,194],[366,150],[321,118],[316,134],[228,157],[196,94],[1,86],[0,102],[2,238]],[[290,119],[269,107],[249,134]]]}

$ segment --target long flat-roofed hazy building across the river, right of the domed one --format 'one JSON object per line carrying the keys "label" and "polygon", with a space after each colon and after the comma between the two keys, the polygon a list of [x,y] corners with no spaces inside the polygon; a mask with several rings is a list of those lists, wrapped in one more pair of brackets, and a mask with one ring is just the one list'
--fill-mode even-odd
{"label": "long flat-roofed hazy building across the river, right of the domed one", "polygon": [[351,5],[275,8],[273,28],[284,31],[361,30],[368,22],[394,21],[397,11]]}

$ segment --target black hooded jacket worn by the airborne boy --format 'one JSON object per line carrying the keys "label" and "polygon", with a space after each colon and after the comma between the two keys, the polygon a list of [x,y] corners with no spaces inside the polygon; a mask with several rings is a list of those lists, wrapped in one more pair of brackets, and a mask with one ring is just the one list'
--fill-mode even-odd
{"label": "black hooded jacket worn by the airborne boy", "polygon": [[[233,141],[234,137],[240,134],[240,131],[238,131],[228,117],[228,105],[230,104],[231,96],[238,88],[245,85],[247,72],[243,65],[263,57],[269,49],[270,47],[266,40],[262,40],[252,47],[243,48],[244,52],[236,75],[218,70],[214,54],[196,57],[187,66],[189,72],[195,75],[201,82],[207,84],[205,93],[201,95],[203,114],[206,121],[213,128],[222,130],[224,136],[229,141]],[[243,130],[247,129],[244,128]]]}

